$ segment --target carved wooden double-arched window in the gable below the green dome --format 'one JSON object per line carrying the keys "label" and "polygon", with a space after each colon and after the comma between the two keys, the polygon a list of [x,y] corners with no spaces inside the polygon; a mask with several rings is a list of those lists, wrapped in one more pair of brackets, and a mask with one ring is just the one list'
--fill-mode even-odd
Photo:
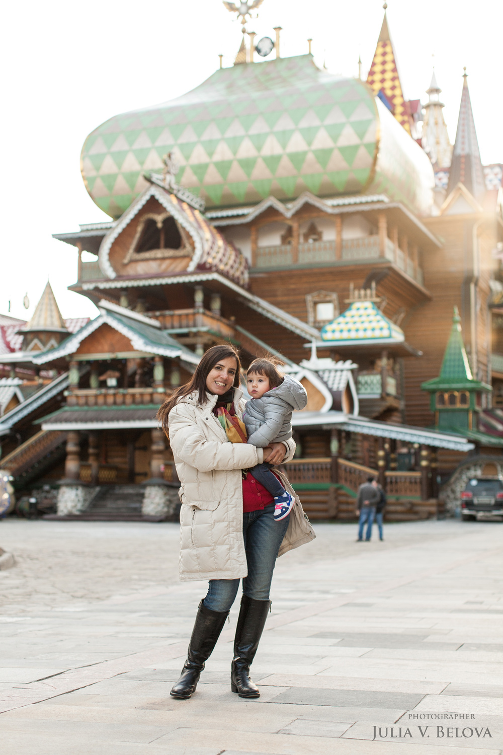
{"label": "carved wooden double-arched window in the gable below the green dome", "polygon": [[192,257],[190,236],[167,212],[146,214],[138,223],[124,263],[165,257]]}

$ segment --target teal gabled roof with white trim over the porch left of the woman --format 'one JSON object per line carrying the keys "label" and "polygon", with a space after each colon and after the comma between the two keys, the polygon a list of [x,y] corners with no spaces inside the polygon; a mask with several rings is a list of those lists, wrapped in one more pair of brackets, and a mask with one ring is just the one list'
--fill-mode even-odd
{"label": "teal gabled roof with white trim over the porch left of the woman", "polygon": [[66,338],[58,347],[33,356],[34,364],[42,365],[45,362],[53,362],[54,359],[70,356],[75,353],[84,338],[94,333],[104,323],[129,338],[134,350],[171,358],[178,357],[189,364],[198,364],[200,358],[161,330],[158,320],[149,322],[146,316],[138,316],[137,313],[118,307],[117,304],[110,305],[104,300],[100,301],[99,308],[98,317],[87,322],[84,328]]}

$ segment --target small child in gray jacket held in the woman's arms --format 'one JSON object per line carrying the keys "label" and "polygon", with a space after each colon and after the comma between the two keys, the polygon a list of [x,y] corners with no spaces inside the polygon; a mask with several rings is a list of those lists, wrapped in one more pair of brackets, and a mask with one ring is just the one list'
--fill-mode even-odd
{"label": "small child in gray jacket held in the woman's arms", "polygon": [[[308,395],[302,385],[283,376],[271,359],[255,359],[247,371],[247,388],[252,397],[243,414],[248,442],[258,448],[292,437],[292,411],[303,409]],[[271,464],[257,464],[250,470],[256,480],[275,498],[277,522],[288,516],[295,499],[271,472]]]}

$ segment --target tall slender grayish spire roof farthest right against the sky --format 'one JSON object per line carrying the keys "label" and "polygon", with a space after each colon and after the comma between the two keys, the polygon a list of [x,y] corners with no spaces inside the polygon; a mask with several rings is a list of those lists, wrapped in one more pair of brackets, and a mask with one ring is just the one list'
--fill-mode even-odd
{"label": "tall slender grayish spire roof farthest right against the sky", "polygon": [[468,75],[463,74],[463,90],[459,106],[458,128],[455,132],[452,163],[449,171],[447,194],[462,183],[468,191],[479,199],[486,193],[480,150],[475,131],[474,113],[471,109]]}

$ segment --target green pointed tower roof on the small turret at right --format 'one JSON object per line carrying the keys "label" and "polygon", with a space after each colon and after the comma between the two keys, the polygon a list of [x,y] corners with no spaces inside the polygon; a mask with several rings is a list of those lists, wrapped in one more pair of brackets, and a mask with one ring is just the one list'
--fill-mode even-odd
{"label": "green pointed tower roof on the small turret at right", "polygon": [[461,317],[454,307],[452,330],[443,354],[440,376],[422,384],[423,390],[492,390],[489,385],[474,380],[461,331]]}

